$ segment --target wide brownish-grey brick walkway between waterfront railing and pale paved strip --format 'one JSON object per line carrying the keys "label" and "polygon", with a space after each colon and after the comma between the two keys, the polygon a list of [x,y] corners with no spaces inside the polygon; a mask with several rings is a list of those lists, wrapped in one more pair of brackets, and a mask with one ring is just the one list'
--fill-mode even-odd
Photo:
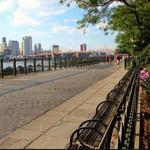
{"label": "wide brownish-grey brick walkway between waterfront railing and pale paved strip", "polygon": [[0,138],[115,72],[109,64],[0,80]]}

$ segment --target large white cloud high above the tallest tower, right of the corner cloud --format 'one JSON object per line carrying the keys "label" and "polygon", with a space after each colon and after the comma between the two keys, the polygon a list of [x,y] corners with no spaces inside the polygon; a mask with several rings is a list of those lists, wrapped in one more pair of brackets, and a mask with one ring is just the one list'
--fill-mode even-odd
{"label": "large white cloud high above the tallest tower, right of the corner cloud", "polygon": [[13,26],[39,26],[46,24],[49,16],[66,12],[56,0],[15,0],[17,8],[12,14]]}

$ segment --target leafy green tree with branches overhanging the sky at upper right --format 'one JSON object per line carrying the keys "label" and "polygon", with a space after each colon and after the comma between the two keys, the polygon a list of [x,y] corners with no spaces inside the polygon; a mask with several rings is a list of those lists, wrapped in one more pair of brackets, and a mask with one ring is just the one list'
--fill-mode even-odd
{"label": "leafy green tree with branches overhanging the sky at upper right", "polygon": [[[70,6],[75,2],[86,11],[79,28],[89,24],[107,23],[104,31],[117,31],[116,42],[121,49],[141,51],[150,44],[149,0],[60,0]],[[112,7],[116,2],[117,5]],[[101,28],[100,28],[101,29]]]}

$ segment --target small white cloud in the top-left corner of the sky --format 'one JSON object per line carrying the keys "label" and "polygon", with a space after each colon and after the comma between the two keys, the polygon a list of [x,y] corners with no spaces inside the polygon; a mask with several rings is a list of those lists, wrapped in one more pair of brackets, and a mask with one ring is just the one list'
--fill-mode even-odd
{"label": "small white cloud in the top-left corner of the sky", "polygon": [[0,12],[9,11],[14,7],[14,0],[1,0],[0,1]]}

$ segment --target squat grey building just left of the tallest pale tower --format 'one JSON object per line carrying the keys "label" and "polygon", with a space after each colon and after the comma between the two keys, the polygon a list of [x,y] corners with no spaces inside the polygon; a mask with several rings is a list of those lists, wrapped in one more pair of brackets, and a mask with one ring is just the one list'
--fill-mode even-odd
{"label": "squat grey building just left of the tallest pale tower", "polygon": [[13,56],[19,55],[19,42],[18,41],[9,41],[8,46]]}

